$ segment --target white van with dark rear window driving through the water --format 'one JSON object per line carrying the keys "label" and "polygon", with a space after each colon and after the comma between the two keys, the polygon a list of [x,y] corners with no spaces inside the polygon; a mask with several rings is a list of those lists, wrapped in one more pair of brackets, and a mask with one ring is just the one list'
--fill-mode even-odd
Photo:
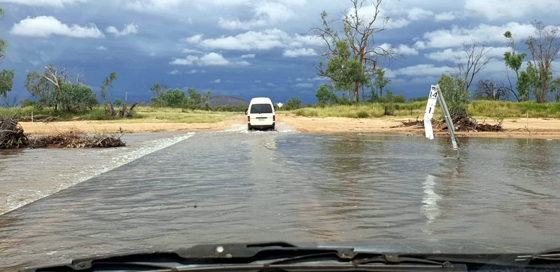
{"label": "white van with dark rear window driving through the water", "polygon": [[246,111],[247,129],[272,129],[276,124],[274,105],[268,97],[255,97],[251,99]]}

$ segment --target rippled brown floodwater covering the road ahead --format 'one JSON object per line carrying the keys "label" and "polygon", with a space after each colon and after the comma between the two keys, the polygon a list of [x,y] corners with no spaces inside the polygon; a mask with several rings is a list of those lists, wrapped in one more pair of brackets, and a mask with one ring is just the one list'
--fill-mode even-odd
{"label": "rippled brown floodwater covering the road ahead", "polygon": [[[147,135],[137,142],[155,137]],[[560,241],[559,141],[461,138],[456,159],[444,137],[289,129],[169,137],[167,148],[138,151],[104,173],[80,168],[111,157],[97,150],[0,155],[1,173],[21,168],[1,182],[25,175],[41,186],[53,174],[34,166],[53,159],[73,166],[52,167],[66,187],[93,176],[1,215],[0,268],[200,243],[512,252]]]}

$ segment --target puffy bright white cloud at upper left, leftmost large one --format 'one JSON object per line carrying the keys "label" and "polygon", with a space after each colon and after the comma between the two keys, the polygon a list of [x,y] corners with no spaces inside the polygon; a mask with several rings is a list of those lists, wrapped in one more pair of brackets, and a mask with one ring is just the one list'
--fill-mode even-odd
{"label": "puffy bright white cloud at upper left, leftmost large one", "polygon": [[13,24],[10,33],[36,37],[60,35],[73,38],[103,38],[105,36],[95,24],[89,24],[86,27],[80,27],[78,24],[68,26],[52,16],[27,17]]}

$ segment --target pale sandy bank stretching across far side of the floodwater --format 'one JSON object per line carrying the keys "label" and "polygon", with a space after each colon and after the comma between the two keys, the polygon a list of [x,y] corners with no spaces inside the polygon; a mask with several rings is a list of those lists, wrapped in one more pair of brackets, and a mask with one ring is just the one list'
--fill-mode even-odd
{"label": "pale sandy bank stretching across far side of the floodwater", "polygon": [[[355,119],[346,117],[302,117],[281,114],[277,122],[301,132],[363,132],[383,134],[423,134],[421,127],[399,127],[407,118],[383,117]],[[479,122],[482,120],[479,120]],[[493,123],[493,120],[488,120]],[[116,133],[119,128],[126,132],[156,131],[221,131],[246,124],[244,115],[230,117],[221,122],[207,123],[124,123],[115,121],[67,121],[67,122],[20,122],[26,134],[56,134],[78,129],[85,133]],[[482,136],[496,138],[551,138],[560,139],[560,120],[551,118],[507,118],[503,132],[459,132],[458,136]],[[447,134],[447,131],[436,132]]]}

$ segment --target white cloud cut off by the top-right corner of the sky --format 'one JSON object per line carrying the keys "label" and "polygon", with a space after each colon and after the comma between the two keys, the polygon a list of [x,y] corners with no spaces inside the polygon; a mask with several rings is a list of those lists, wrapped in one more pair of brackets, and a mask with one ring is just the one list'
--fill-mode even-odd
{"label": "white cloud cut off by the top-right corner of the sky", "polygon": [[534,13],[536,10],[558,11],[558,0],[468,0],[465,10],[480,14],[488,20],[502,18],[519,18]]}

